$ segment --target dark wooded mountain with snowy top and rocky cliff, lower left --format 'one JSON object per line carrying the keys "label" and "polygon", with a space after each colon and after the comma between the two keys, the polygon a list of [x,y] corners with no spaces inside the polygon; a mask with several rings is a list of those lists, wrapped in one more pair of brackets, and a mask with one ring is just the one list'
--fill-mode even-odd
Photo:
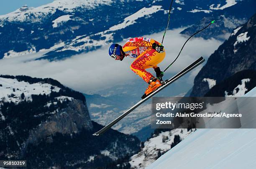
{"label": "dark wooded mountain with snowy top and rocky cliff, lower left", "polygon": [[[99,168],[140,150],[135,136],[91,121],[82,93],[51,78],[0,75],[0,158],[28,168]],[[59,160],[61,159],[61,160]]]}

